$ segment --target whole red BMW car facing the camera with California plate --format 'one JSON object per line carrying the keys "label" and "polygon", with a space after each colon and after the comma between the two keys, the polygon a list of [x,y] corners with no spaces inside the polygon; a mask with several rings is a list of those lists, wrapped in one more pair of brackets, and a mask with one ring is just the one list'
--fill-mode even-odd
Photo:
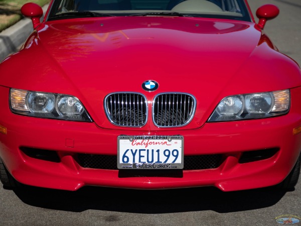
{"label": "whole red BMW car facing the camera with California plate", "polygon": [[223,191],[300,171],[301,72],[244,0],[53,0],[0,64],[0,178]]}

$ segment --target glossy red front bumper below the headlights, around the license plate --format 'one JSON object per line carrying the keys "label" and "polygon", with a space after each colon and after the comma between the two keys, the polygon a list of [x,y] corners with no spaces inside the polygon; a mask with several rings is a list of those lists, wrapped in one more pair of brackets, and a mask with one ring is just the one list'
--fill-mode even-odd
{"label": "glossy red front bumper below the headlights, around the license plate", "polygon": [[[259,188],[280,183],[291,171],[301,150],[298,104],[300,88],[291,89],[291,109],[281,117],[226,123],[207,123],[196,130],[160,132],[107,130],[94,123],[38,119],[12,114],[8,106],[9,88],[0,86],[3,107],[0,125],[0,156],[10,173],[21,183],[77,190],[85,185],[136,189],[166,189],[216,186],[224,191]],[[137,176],[119,170],[83,168],[78,154],[116,155],[119,135],[182,135],[184,154],[223,156],[214,169],[183,170],[181,176]],[[29,150],[50,150],[59,161],[33,158]],[[268,159],[239,163],[242,153],[271,150]]]}

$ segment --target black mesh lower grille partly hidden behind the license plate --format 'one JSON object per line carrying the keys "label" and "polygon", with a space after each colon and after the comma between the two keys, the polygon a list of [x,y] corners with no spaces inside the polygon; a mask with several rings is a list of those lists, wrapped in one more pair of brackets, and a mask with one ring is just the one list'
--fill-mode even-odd
{"label": "black mesh lower grille partly hidden behind the license plate", "polygon": [[[79,154],[79,165],[92,169],[117,170],[117,156]],[[184,170],[215,169],[222,163],[222,155],[197,155],[184,157]]]}

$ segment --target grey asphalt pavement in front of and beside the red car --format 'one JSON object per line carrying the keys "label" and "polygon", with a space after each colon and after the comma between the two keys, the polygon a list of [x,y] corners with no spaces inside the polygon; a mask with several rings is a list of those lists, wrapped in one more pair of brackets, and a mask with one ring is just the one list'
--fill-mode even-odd
{"label": "grey asphalt pavement in front of and beside the red car", "polygon": [[[263,4],[280,8],[265,31],[281,52],[301,63],[301,1],[249,3],[254,13]],[[279,225],[276,219],[281,217],[301,218],[300,203],[301,181],[290,192],[274,187],[236,192],[214,187],[13,191],[0,186],[0,225]]]}

